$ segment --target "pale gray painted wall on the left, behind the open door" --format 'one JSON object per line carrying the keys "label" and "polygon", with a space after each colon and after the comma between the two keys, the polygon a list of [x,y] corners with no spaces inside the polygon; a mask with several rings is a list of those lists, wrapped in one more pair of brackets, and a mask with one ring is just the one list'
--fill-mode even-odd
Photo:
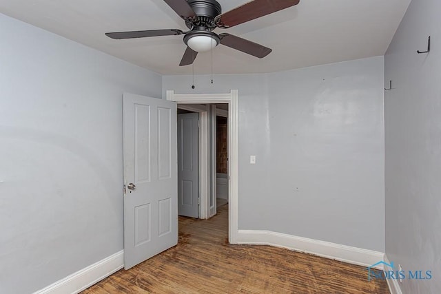
{"label": "pale gray painted wall on the left, behind the open door", "polygon": [[0,14],[0,293],[123,249],[122,94],[161,76]]}

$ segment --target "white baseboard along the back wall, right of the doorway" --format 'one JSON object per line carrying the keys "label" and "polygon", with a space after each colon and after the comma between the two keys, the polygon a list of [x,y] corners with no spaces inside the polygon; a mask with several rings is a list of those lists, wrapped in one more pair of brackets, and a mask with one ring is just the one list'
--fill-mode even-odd
{"label": "white baseboard along the back wall, right of the doorway", "polygon": [[[378,251],[272,231],[238,230],[237,244],[271,245],[366,267],[376,264],[384,257],[384,253]],[[376,268],[382,269],[382,266]]]}

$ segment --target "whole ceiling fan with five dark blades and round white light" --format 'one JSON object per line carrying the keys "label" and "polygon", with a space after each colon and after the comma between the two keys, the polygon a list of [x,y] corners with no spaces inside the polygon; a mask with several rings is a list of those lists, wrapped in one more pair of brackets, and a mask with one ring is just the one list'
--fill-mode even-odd
{"label": "whole ceiling fan with five dark blades and round white light", "polygon": [[189,31],[178,29],[141,30],[132,32],[107,32],[112,39],[145,38],[147,36],[172,36],[184,34],[187,45],[179,65],[190,65],[198,52],[212,50],[218,44],[263,58],[271,49],[232,34],[216,34],[215,28],[232,28],[267,14],[297,5],[300,0],[254,0],[222,14],[216,0],[164,0],[184,21]]}

